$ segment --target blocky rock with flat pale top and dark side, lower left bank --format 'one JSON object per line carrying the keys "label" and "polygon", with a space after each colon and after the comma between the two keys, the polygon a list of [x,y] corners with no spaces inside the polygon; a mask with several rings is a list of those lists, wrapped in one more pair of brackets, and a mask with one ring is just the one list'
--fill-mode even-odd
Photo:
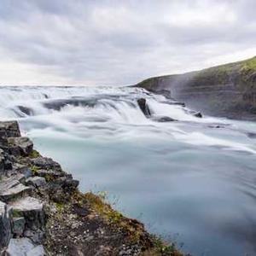
{"label": "blocky rock with flat pale top and dark side, lower left bank", "polygon": [[15,214],[25,218],[26,229],[40,230],[44,228],[44,206],[38,199],[27,196],[10,203],[10,207]]}

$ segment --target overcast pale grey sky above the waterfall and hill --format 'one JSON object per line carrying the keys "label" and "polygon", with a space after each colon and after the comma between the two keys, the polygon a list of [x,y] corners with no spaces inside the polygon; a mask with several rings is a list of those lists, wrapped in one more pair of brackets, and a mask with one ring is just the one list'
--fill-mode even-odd
{"label": "overcast pale grey sky above the waterfall and hill", "polygon": [[256,55],[255,0],[1,0],[0,84],[135,84]]}

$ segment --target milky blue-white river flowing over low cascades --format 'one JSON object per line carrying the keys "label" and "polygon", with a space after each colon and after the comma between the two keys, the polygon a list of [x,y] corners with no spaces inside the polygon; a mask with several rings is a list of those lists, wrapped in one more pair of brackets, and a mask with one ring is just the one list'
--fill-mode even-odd
{"label": "milky blue-white river flowing over low cascades", "polygon": [[[145,98],[147,118],[137,104]],[[160,122],[161,118],[177,119]],[[1,87],[41,154],[193,255],[256,255],[256,123],[132,87]]]}

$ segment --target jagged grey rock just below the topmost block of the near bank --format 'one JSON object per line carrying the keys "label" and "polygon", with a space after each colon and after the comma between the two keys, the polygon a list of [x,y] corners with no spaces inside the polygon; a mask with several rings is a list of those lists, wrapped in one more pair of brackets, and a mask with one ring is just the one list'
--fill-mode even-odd
{"label": "jagged grey rock just below the topmost block of the near bank", "polygon": [[11,154],[26,156],[32,153],[33,143],[28,137],[9,137],[8,142]]}

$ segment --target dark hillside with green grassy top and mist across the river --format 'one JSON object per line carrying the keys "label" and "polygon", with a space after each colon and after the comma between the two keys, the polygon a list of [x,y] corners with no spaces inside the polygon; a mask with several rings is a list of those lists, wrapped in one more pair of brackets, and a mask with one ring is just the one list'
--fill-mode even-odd
{"label": "dark hillside with green grassy top and mist across the river", "polygon": [[256,119],[256,56],[201,71],[146,79],[137,86],[172,96],[205,114]]}

